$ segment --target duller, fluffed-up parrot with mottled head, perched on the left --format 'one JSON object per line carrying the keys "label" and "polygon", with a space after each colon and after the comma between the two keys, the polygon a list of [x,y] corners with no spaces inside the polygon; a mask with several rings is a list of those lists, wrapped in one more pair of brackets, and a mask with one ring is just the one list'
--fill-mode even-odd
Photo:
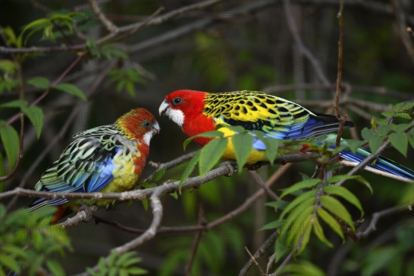
{"label": "duller, fluffed-up parrot with mottled head, perched on the left", "polygon": [[[146,164],[150,140],[160,130],[154,116],[136,108],[115,124],[98,126],[73,136],[75,141],[63,150],[37,182],[35,189],[57,193],[121,193],[137,182]],[[81,204],[108,208],[115,201],[92,199],[35,200],[30,212],[43,206],[59,206],[54,221],[66,208],[77,210]]]}

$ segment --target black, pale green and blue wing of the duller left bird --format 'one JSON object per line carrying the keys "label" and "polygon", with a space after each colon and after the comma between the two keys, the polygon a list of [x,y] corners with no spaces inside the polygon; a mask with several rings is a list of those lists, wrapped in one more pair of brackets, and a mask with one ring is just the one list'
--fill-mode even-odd
{"label": "black, pale green and blue wing of the duller left bird", "polygon": [[[106,126],[108,127],[108,126]],[[96,131],[93,131],[96,130]],[[80,132],[36,184],[36,190],[58,193],[92,193],[101,190],[112,179],[114,159],[125,143],[130,142],[103,127]],[[59,205],[68,199],[37,199],[31,210],[43,205]]]}

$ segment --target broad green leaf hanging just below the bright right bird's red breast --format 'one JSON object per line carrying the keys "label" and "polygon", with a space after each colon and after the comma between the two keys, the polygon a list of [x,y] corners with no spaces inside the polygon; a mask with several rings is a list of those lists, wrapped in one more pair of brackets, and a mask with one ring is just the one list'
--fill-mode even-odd
{"label": "broad green leaf hanging just below the bright right bird's red breast", "polygon": [[227,148],[228,139],[215,138],[206,144],[200,151],[199,175],[204,177],[206,173],[217,164]]}

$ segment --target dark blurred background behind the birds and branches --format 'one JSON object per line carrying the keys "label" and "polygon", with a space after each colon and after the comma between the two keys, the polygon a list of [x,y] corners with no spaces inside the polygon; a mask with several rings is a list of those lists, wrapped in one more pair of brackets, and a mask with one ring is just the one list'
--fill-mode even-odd
{"label": "dark blurred background behind the birds and branches", "polygon": [[[370,126],[371,115],[380,116],[382,108],[391,104],[413,98],[414,67],[413,60],[404,46],[401,26],[397,21],[395,10],[402,10],[407,26],[414,25],[413,1],[345,1],[344,6],[344,69],[343,81],[346,94],[353,99],[380,106],[349,104],[344,106],[348,119],[355,122],[356,135],[362,128]],[[165,12],[185,7],[197,1],[97,1],[103,12],[118,26],[142,21],[160,6]],[[86,1],[16,1],[1,0],[0,25],[10,26],[19,33],[22,26],[45,17],[48,12],[56,10],[77,10],[90,14]],[[286,9],[288,11],[286,12]],[[299,101],[304,106],[318,112],[331,112],[332,108],[322,105],[324,101],[333,101],[335,81],[337,78],[337,41],[339,27],[337,23],[338,1],[290,1],[284,6],[282,1],[223,1],[205,9],[188,11],[179,17],[158,25],[146,26],[135,34],[119,42],[127,58],[118,61],[114,68],[132,68],[137,75],[133,78],[130,90],[117,91],[115,77],[106,77],[98,90],[87,103],[70,95],[53,91],[41,101],[45,121],[41,137],[37,139],[34,128],[26,124],[25,156],[17,175],[6,182],[6,188],[18,186],[26,179],[26,188],[33,188],[41,173],[55,161],[60,152],[70,143],[76,132],[94,126],[111,124],[117,117],[137,106],[150,110],[161,125],[161,133],[151,142],[148,160],[165,162],[184,154],[182,143],[185,139],[181,130],[172,121],[158,117],[158,107],[164,97],[173,90],[193,89],[208,92],[231,90],[266,90],[277,91],[275,95],[292,101]],[[164,13],[165,13],[164,12]],[[297,36],[311,52],[307,59],[297,46],[293,32],[288,27],[286,13],[293,20]],[[107,31],[99,21],[92,20],[90,28],[83,31],[87,37],[99,39]],[[409,42],[413,41],[408,34]],[[81,43],[77,37],[72,43]],[[58,39],[56,45],[68,43]],[[48,41],[41,41],[41,34],[36,34],[27,46],[50,46]],[[55,80],[75,59],[74,52],[52,52],[29,59],[23,66],[23,76],[42,76]],[[1,59],[10,59],[1,54]],[[74,83],[83,92],[88,91],[99,73],[108,66],[105,58],[89,57],[83,59],[72,70],[66,82]],[[331,88],[323,88],[324,79],[318,75],[322,72]],[[304,86],[286,89],[281,86],[304,83]],[[345,89],[344,89],[345,90]],[[26,89],[26,99],[31,102],[41,94],[41,90],[32,87]],[[1,102],[17,98],[17,92],[0,94]],[[316,100],[316,103],[315,103]],[[306,104],[308,103],[308,105]],[[318,106],[318,103],[321,103]],[[63,134],[41,164],[29,171],[32,162],[37,159],[50,141],[57,135],[71,110],[82,105],[81,112],[70,123],[68,131]],[[13,113],[1,110],[1,119],[7,119]],[[18,126],[18,124],[16,124]],[[355,136],[354,133],[354,136]],[[345,137],[351,137],[349,130]],[[186,152],[197,149],[190,144]],[[413,152],[404,158],[396,150],[387,150],[387,157],[413,167]],[[264,167],[259,173],[267,178],[278,166]],[[145,175],[154,168],[147,166]],[[177,178],[182,169],[177,168],[166,173],[164,180]],[[295,164],[287,174],[275,184],[275,190],[299,181],[299,173],[311,175],[313,164],[306,162]],[[145,177],[144,175],[144,177]],[[362,201],[368,217],[371,213],[398,204],[404,195],[413,193],[413,186],[392,179],[378,177],[369,172],[362,172],[374,188],[370,195],[359,184],[350,184]],[[163,226],[187,226],[197,224],[199,204],[204,208],[206,219],[211,221],[237,208],[249,195],[257,190],[250,175],[246,172],[233,177],[221,177],[202,186],[199,190],[186,190],[178,200],[164,196]],[[360,190],[360,191],[359,191]],[[253,207],[226,224],[203,234],[202,244],[196,255],[194,275],[235,275],[248,261],[244,250],[247,246],[254,252],[270,235],[270,232],[257,229],[268,221],[275,219],[273,209],[264,206],[270,199],[259,199]],[[25,206],[29,199],[20,198],[16,208]],[[352,207],[350,207],[351,210]],[[355,218],[358,213],[355,209]],[[146,228],[152,215],[144,210],[142,204],[134,202],[132,206],[119,204],[117,210],[100,210],[98,216],[115,219],[121,224],[136,228]],[[397,232],[378,242],[377,237],[396,225],[410,224],[412,215],[398,214],[382,220],[373,237],[354,244],[352,241],[341,246],[335,234],[328,239],[335,242],[335,248],[328,249],[316,239],[306,249],[304,257],[310,259],[325,271],[334,271],[339,275],[364,272],[364,257],[377,246],[398,244]],[[92,222],[79,224],[68,230],[75,253],[68,253],[61,262],[68,273],[81,272],[85,266],[93,266],[97,258],[106,255],[108,250],[136,237],[105,224]],[[397,233],[397,234],[396,234]],[[329,234],[329,233],[328,233]],[[159,234],[155,239],[137,249],[143,257],[141,266],[157,274],[182,274],[190,255],[194,233]],[[398,234],[400,235],[400,234]],[[402,235],[402,234],[401,234]],[[413,235],[404,236],[404,242],[413,243]],[[407,237],[409,240],[407,240]],[[377,244],[375,244],[377,241]],[[333,256],[346,247],[346,257],[333,268]],[[270,254],[273,248],[270,250]],[[413,262],[413,247],[396,255],[401,259],[401,266]],[[398,253],[395,253],[398,254]],[[411,257],[410,257],[411,256]],[[264,258],[266,263],[266,258]],[[384,261],[385,262],[385,261]],[[407,263],[408,262],[408,263]],[[331,270],[330,270],[331,269]],[[388,270],[391,268],[387,268]],[[395,268],[397,269],[397,268]],[[382,272],[389,271],[384,268]],[[398,270],[393,270],[398,271]],[[402,271],[402,270],[400,270]],[[257,274],[256,268],[250,271]]]}

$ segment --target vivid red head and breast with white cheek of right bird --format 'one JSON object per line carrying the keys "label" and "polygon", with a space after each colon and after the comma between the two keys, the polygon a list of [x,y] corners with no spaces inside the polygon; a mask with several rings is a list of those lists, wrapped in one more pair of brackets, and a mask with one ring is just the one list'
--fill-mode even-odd
{"label": "vivid red head and breast with white cheek of right bird", "polygon": [[[159,115],[165,115],[174,121],[188,137],[215,130],[213,119],[203,114],[206,95],[208,95],[207,92],[195,90],[171,92],[159,106]],[[195,141],[205,145],[210,138],[198,137]]]}

